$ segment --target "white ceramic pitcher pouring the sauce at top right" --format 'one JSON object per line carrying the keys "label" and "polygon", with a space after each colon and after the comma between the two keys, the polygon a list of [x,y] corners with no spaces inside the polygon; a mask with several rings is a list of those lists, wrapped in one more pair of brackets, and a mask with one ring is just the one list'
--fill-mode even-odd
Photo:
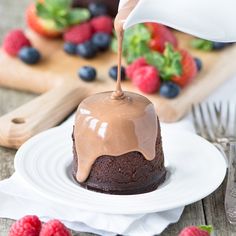
{"label": "white ceramic pitcher pouring the sauce at top right", "polygon": [[[119,10],[127,1],[120,1]],[[158,22],[212,41],[235,42],[236,0],[139,0],[124,29],[141,22]]]}

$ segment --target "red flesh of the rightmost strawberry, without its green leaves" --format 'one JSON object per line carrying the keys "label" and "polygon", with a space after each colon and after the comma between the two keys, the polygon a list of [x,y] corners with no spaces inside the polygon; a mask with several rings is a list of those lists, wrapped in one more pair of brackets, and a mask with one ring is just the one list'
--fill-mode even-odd
{"label": "red flesh of the rightmost strawberry, without its green leaves", "polygon": [[197,66],[194,58],[186,50],[180,49],[179,52],[182,56],[182,74],[180,76],[173,76],[171,80],[184,87],[197,75]]}

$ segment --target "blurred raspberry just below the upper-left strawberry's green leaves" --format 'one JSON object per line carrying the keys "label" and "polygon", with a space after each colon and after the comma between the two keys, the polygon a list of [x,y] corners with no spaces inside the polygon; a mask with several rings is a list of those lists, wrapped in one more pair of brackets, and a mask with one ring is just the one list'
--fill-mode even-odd
{"label": "blurred raspberry just below the upper-left strawberry's green leaves", "polygon": [[88,41],[92,37],[92,27],[89,23],[76,25],[67,30],[63,38],[66,42],[80,44]]}

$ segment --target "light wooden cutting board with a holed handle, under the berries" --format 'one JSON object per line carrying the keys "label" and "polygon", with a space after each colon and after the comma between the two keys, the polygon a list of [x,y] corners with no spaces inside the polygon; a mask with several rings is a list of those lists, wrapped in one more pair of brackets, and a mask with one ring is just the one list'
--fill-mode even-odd
{"label": "light wooden cutting board with a holed handle, under the berries", "polygon": [[[31,136],[57,125],[86,96],[115,88],[108,70],[116,64],[116,55],[106,52],[95,59],[84,60],[63,51],[61,40],[47,40],[27,33],[33,45],[43,55],[38,65],[28,66],[0,51],[0,86],[43,94],[17,110],[0,118],[0,145],[18,148]],[[200,52],[189,47],[191,36],[176,33],[180,46],[202,59],[204,68],[193,83],[175,99],[147,96],[155,105],[163,122],[174,122],[183,117],[191,104],[202,101],[213,90],[236,73],[236,45],[221,52]],[[97,69],[96,82],[86,83],[77,76],[83,65]],[[130,81],[122,84],[124,90],[140,93]]]}

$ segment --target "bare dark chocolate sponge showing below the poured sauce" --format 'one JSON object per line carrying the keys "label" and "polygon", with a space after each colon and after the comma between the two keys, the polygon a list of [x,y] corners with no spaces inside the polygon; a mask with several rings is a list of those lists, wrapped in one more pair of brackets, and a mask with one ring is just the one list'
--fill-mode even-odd
{"label": "bare dark chocolate sponge showing below the poured sauce", "polygon": [[[153,191],[164,182],[166,170],[161,136],[156,138],[156,155],[148,161],[137,151],[120,156],[102,155],[92,165],[90,175],[82,187],[109,194],[140,194]],[[73,137],[73,176],[78,172],[78,156]],[[78,181],[78,180],[77,180]]]}

